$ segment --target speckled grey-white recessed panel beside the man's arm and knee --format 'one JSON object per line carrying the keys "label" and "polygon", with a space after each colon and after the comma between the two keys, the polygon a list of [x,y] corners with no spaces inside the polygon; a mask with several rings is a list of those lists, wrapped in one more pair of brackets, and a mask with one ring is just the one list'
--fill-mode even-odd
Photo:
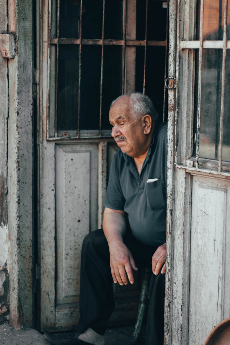
{"label": "speckled grey-white recessed panel beside the man's arm and knee", "polygon": [[97,228],[97,145],[56,146],[57,304],[78,302],[84,237]]}

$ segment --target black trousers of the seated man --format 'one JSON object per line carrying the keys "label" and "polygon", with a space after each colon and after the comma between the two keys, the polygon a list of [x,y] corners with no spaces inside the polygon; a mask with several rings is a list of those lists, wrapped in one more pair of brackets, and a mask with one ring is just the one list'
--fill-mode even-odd
{"label": "black trousers of the seated man", "polygon": [[[137,267],[151,267],[157,248],[139,242],[128,231],[124,243],[133,255]],[[81,253],[80,320],[77,331],[88,327],[104,334],[114,309],[109,246],[103,230],[95,230],[84,238]],[[152,274],[149,287],[149,312],[146,345],[163,345],[165,275]]]}

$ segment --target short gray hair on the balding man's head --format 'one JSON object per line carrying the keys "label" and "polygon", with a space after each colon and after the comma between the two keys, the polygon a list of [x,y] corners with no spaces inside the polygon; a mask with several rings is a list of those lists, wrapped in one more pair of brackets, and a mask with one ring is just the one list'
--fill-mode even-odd
{"label": "short gray hair on the balding man's head", "polygon": [[157,120],[158,113],[154,108],[151,99],[140,92],[125,93],[124,95],[119,96],[112,101],[110,108],[123,96],[129,96],[131,114],[136,120],[147,114],[151,116],[153,121]]}

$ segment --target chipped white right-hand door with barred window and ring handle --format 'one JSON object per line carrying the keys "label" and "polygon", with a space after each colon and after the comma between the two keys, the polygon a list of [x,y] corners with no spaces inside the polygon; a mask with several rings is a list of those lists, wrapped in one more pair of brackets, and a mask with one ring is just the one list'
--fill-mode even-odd
{"label": "chipped white right-hand door with barred window and ring handle", "polygon": [[230,310],[229,1],[171,1],[169,18],[165,343],[203,344]]}

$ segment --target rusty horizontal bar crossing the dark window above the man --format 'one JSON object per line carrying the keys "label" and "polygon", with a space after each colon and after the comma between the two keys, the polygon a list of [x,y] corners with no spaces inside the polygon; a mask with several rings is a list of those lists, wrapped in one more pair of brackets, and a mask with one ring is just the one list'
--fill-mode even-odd
{"label": "rusty horizontal bar crossing the dark window above the man", "polygon": [[[76,44],[76,45],[79,45],[79,42],[80,42],[79,38],[59,38],[59,43],[60,44]],[[186,42],[190,42],[190,41],[186,41]],[[194,41],[192,41],[192,43],[193,42]],[[213,41],[207,41],[207,42],[213,42]],[[218,42],[218,41],[216,41],[216,42]],[[51,38],[50,43],[51,44],[57,44],[57,38]],[[102,41],[101,41],[101,39],[82,38],[81,43],[82,43],[82,45],[99,45],[100,46],[102,44]],[[199,41],[198,41],[198,43],[199,43]],[[106,39],[106,40],[104,40],[103,44],[104,44],[104,46],[123,46],[124,45],[124,40]],[[145,40],[126,40],[125,44],[126,44],[126,46],[144,46],[145,45]],[[166,47],[167,46],[167,41],[152,41],[152,40],[148,40],[147,41],[147,46]],[[199,47],[197,47],[197,48],[199,48]],[[221,47],[221,48],[223,48],[223,47]]]}

